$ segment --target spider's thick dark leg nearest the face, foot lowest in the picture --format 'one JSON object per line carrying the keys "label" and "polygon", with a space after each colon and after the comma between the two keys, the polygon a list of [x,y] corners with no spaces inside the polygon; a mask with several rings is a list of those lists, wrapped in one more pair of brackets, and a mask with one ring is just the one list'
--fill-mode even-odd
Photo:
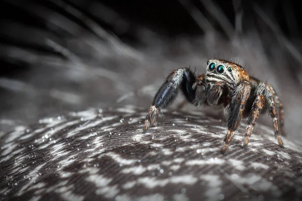
{"label": "spider's thick dark leg nearest the face, foot lowest in the picture", "polygon": [[231,142],[235,131],[239,126],[239,121],[242,118],[242,114],[245,109],[246,102],[250,96],[251,84],[248,81],[243,81],[232,94],[230,114],[228,117],[228,132],[226,132],[224,138],[224,145],[221,148],[221,153],[224,154]]}

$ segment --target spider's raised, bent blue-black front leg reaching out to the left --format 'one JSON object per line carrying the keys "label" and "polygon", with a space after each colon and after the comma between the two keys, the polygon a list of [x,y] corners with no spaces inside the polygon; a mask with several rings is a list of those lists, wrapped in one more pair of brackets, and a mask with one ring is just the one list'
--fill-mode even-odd
{"label": "spider's raised, bent blue-black front leg reaching out to the left", "polygon": [[160,110],[166,108],[173,102],[178,94],[179,88],[184,93],[186,99],[190,103],[193,103],[195,99],[195,89],[193,89],[192,86],[195,81],[194,73],[187,67],[179,68],[170,73],[154,96],[152,105],[145,117],[142,133],[146,133],[150,126],[156,126],[156,117]]}

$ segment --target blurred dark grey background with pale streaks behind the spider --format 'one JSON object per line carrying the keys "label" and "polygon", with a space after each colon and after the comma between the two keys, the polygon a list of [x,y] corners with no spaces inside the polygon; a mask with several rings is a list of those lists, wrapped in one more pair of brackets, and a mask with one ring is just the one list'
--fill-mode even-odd
{"label": "blurred dark grey background with pale streaks behind the spider", "polygon": [[90,107],[147,108],[171,70],[202,73],[222,57],[277,89],[287,133],[299,135],[298,2],[2,1],[0,10],[3,131]]}

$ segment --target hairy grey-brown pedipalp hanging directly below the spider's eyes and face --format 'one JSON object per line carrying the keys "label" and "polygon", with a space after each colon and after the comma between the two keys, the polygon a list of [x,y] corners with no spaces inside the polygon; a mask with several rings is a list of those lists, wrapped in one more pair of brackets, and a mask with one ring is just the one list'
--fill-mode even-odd
{"label": "hairy grey-brown pedipalp hanging directly below the spider's eyes and face", "polygon": [[225,81],[215,82],[214,84],[208,83],[208,88],[206,90],[206,101],[210,106],[216,106],[218,104],[218,100],[223,93],[224,85]]}

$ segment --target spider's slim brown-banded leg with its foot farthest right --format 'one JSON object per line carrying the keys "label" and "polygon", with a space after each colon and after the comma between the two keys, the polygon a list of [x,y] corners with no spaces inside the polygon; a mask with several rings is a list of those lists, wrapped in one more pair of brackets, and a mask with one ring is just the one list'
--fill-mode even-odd
{"label": "spider's slim brown-banded leg with its foot farthest right", "polygon": [[[278,140],[279,147],[283,148],[283,143],[279,136],[278,113],[277,113],[276,102],[275,102],[275,90],[268,83],[264,83],[264,84],[265,84],[265,90],[263,91],[263,95],[265,99],[268,100],[269,113],[271,118],[273,118],[275,138],[277,138]],[[283,117],[282,117],[282,121],[283,121]]]}

